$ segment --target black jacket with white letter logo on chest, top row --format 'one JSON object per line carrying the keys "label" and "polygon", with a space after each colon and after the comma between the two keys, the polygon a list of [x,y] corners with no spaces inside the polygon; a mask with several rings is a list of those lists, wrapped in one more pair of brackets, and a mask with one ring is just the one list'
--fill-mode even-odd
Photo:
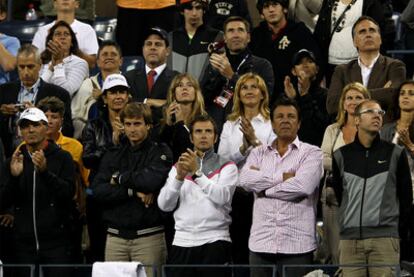
{"label": "black jacket with white letter logo on chest, top row", "polygon": [[271,103],[284,92],[283,81],[290,74],[296,52],[308,49],[315,54],[316,60],[320,55],[319,47],[305,24],[291,20],[275,40],[272,40],[267,22],[262,21],[253,29],[249,47],[254,55],[267,59],[273,66],[275,87]]}

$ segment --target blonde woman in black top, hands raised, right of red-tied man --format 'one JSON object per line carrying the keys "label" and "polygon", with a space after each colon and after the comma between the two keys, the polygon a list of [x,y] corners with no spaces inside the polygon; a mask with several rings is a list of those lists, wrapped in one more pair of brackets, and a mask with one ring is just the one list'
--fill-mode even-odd
{"label": "blonde woman in black top, hands raised, right of red-tied man", "polygon": [[174,163],[187,148],[193,149],[188,126],[200,114],[206,114],[206,111],[198,81],[188,73],[175,76],[168,89],[159,134],[160,140],[173,151]]}

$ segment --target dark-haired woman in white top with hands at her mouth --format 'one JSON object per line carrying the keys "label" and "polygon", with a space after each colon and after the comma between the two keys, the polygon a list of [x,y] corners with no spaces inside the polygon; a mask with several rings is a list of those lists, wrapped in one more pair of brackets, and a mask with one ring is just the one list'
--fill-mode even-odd
{"label": "dark-haired woman in white top with hands at her mouth", "polygon": [[66,89],[71,97],[89,76],[88,63],[76,56],[78,41],[65,21],[58,21],[46,37],[46,50],[41,54],[41,77],[45,82]]}

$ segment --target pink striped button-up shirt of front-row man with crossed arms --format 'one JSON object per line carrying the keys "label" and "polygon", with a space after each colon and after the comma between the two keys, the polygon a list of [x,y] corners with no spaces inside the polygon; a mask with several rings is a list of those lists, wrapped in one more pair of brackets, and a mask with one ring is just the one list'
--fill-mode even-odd
{"label": "pink striped button-up shirt of front-row man with crossed arms", "polygon": [[[283,156],[271,146],[252,150],[240,174],[240,186],[255,192],[251,251],[299,254],[316,248],[316,204],[322,160],[318,147],[298,138]],[[295,176],[283,181],[283,173]],[[259,197],[259,192],[265,196]]]}

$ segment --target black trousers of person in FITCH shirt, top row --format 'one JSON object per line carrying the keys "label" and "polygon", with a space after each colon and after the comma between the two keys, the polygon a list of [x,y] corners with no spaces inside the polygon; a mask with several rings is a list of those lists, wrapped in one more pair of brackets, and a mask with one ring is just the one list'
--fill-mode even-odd
{"label": "black trousers of person in FITCH shirt, top row", "polygon": [[141,56],[145,33],[151,27],[161,27],[167,32],[175,27],[175,6],[160,10],[139,10],[118,7],[116,41],[124,56]]}

